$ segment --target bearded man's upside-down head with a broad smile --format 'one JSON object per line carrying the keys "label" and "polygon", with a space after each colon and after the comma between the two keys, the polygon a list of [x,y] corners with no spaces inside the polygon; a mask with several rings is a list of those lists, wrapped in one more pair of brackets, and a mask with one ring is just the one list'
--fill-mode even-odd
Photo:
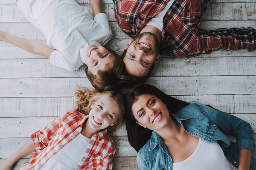
{"label": "bearded man's upside-down head with a broad smile", "polygon": [[130,40],[122,54],[128,74],[145,82],[159,59],[159,49],[159,40],[150,32],[143,32]]}

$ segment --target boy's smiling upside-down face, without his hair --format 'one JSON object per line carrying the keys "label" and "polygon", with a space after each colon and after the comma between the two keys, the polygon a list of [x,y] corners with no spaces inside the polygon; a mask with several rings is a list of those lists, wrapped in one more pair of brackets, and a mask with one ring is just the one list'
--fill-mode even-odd
{"label": "boy's smiling upside-down face, without his hair", "polygon": [[102,46],[89,45],[86,48],[85,63],[93,75],[105,71],[105,65],[113,63],[115,56]]}

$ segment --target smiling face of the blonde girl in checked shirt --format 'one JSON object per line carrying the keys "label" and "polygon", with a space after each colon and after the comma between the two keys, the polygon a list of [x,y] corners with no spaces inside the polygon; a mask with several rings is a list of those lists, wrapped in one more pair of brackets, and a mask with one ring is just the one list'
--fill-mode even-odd
{"label": "smiling face of the blonde girl in checked shirt", "polygon": [[102,130],[116,124],[120,111],[110,96],[102,96],[91,105],[88,122],[95,130]]}

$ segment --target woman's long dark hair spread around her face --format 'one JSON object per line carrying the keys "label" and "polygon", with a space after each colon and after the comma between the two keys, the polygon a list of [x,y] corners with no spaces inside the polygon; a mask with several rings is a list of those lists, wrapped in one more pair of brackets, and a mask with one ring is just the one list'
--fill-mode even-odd
{"label": "woman's long dark hair spread around her face", "polygon": [[186,105],[189,105],[187,102],[168,96],[152,85],[139,85],[132,93],[126,94],[127,109],[125,113],[125,125],[127,136],[131,146],[134,147],[137,152],[139,152],[140,148],[146,144],[152,135],[152,130],[144,128],[136,123],[137,120],[134,118],[131,111],[131,106],[134,104],[137,97],[143,94],[156,96],[164,104],[166,104],[166,108],[168,109],[169,113],[176,113]]}

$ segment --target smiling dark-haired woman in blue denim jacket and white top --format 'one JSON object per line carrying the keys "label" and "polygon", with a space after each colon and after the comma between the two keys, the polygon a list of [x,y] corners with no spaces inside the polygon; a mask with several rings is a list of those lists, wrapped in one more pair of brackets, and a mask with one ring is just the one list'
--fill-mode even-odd
{"label": "smiling dark-haired woman in blue denim jacket and white top", "polygon": [[256,170],[249,123],[151,85],[136,87],[126,99],[126,129],[139,170]]}

